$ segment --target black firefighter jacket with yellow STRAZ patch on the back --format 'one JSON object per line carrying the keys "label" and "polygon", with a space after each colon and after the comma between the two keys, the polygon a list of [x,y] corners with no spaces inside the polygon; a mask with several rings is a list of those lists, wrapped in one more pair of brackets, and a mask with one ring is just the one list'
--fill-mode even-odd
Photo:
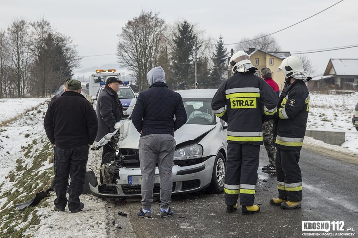
{"label": "black firefighter jacket with yellow STRAZ patch on the back", "polygon": [[262,145],[262,121],[277,111],[277,94],[251,72],[236,73],[220,85],[211,107],[228,123],[227,143]]}

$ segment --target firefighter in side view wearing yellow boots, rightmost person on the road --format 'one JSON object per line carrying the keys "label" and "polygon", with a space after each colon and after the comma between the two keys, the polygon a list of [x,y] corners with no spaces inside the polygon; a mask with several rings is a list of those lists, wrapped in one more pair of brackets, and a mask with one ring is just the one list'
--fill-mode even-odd
{"label": "firefighter in side view wearing yellow boots, rightmost person on the road", "polygon": [[279,66],[285,75],[285,86],[279,98],[273,128],[276,146],[278,198],[270,204],[284,209],[301,207],[302,177],[298,164],[309,110],[310,95],[303,80],[311,80],[297,56],[284,59]]}

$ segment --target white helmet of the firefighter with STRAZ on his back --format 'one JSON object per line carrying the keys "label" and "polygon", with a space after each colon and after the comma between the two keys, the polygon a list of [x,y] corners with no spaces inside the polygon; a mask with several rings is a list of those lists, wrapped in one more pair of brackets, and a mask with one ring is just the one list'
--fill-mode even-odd
{"label": "white helmet of the firefighter with STRAZ on his back", "polygon": [[237,51],[231,56],[227,69],[231,70],[233,73],[236,71],[246,72],[257,70],[257,68],[251,64],[250,56],[242,50]]}

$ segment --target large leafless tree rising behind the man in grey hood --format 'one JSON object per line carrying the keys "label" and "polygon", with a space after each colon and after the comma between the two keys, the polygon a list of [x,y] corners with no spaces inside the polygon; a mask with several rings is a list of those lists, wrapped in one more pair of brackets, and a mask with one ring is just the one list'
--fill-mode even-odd
{"label": "large leafless tree rising behind the man in grey hood", "polygon": [[140,92],[148,86],[147,72],[158,66],[160,52],[165,46],[165,29],[165,21],[159,17],[159,12],[142,11],[117,35],[118,63],[135,72]]}

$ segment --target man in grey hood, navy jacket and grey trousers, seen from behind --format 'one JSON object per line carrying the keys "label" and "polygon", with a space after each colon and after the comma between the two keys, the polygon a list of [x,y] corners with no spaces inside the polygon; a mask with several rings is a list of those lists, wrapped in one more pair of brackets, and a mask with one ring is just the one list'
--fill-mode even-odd
{"label": "man in grey hood, navy jacket and grey trousers, seen from behind", "polygon": [[[165,83],[162,67],[155,67],[147,74],[149,89],[138,95],[131,115],[139,139],[141,179],[141,203],[139,217],[151,217],[155,166],[158,163],[160,177],[160,216],[172,216],[169,208],[173,191],[174,131],[187,121],[182,97]],[[174,120],[175,115],[175,120]]]}

